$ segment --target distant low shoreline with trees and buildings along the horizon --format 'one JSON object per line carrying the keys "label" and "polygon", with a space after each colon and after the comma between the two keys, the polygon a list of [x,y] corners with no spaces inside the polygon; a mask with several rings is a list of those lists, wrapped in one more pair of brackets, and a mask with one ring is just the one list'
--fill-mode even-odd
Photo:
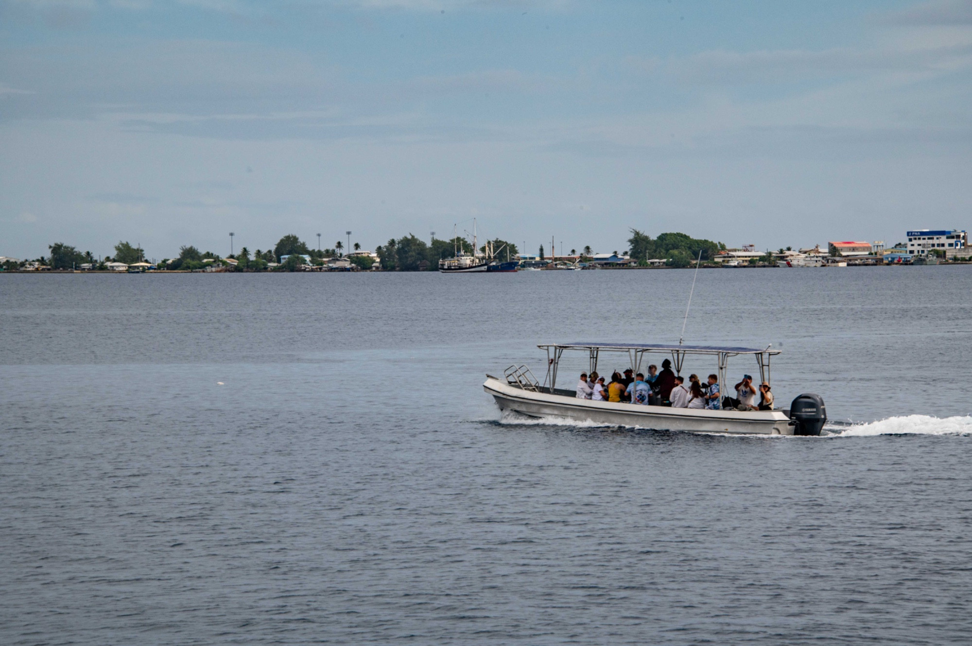
{"label": "distant low shoreline with trees and buildings along the horizon", "polygon": [[[312,249],[295,234],[280,238],[265,250],[239,252],[221,256],[200,252],[193,245],[180,248],[179,255],[160,260],[149,259],[141,245],[120,241],[113,255],[95,256],[76,247],[57,242],[48,246],[48,254],[33,259],[0,256],[0,272],[107,272],[107,273],[226,273],[226,272],[299,272],[299,271],[435,271],[440,261],[458,254],[495,254],[506,261],[516,261],[519,269],[639,269],[700,267],[790,267],[848,266],[888,264],[938,264],[972,262],[964,230],[920,229],[907,232],[908,242],[885,248],[883,242],[830,242],[794,250],[781,247],[776,251],[757,251],[753,245],[729,248],[722,242],[693,238],[685,233],[660,233],[652,238],[637,228],[623,252],[595,253],[590,246],[579,252],[556,253],[551,245],[546,254],[543,245],[538,254],[522,253],[513,242],[495,238],[477,249],[463,237],[439,239],[429,243],[409,233],[391,238],[374,251],[348,241],[347,249],[340,240],[330,249]],[[230,240],[232,240],[230,234]],[[939,241],[941,239],[941,241]],[[929,242],[931,241],[931,242]],[[946,242],[947,241],[947,242]],[[232,244],[230,242],[230,244]]]}

